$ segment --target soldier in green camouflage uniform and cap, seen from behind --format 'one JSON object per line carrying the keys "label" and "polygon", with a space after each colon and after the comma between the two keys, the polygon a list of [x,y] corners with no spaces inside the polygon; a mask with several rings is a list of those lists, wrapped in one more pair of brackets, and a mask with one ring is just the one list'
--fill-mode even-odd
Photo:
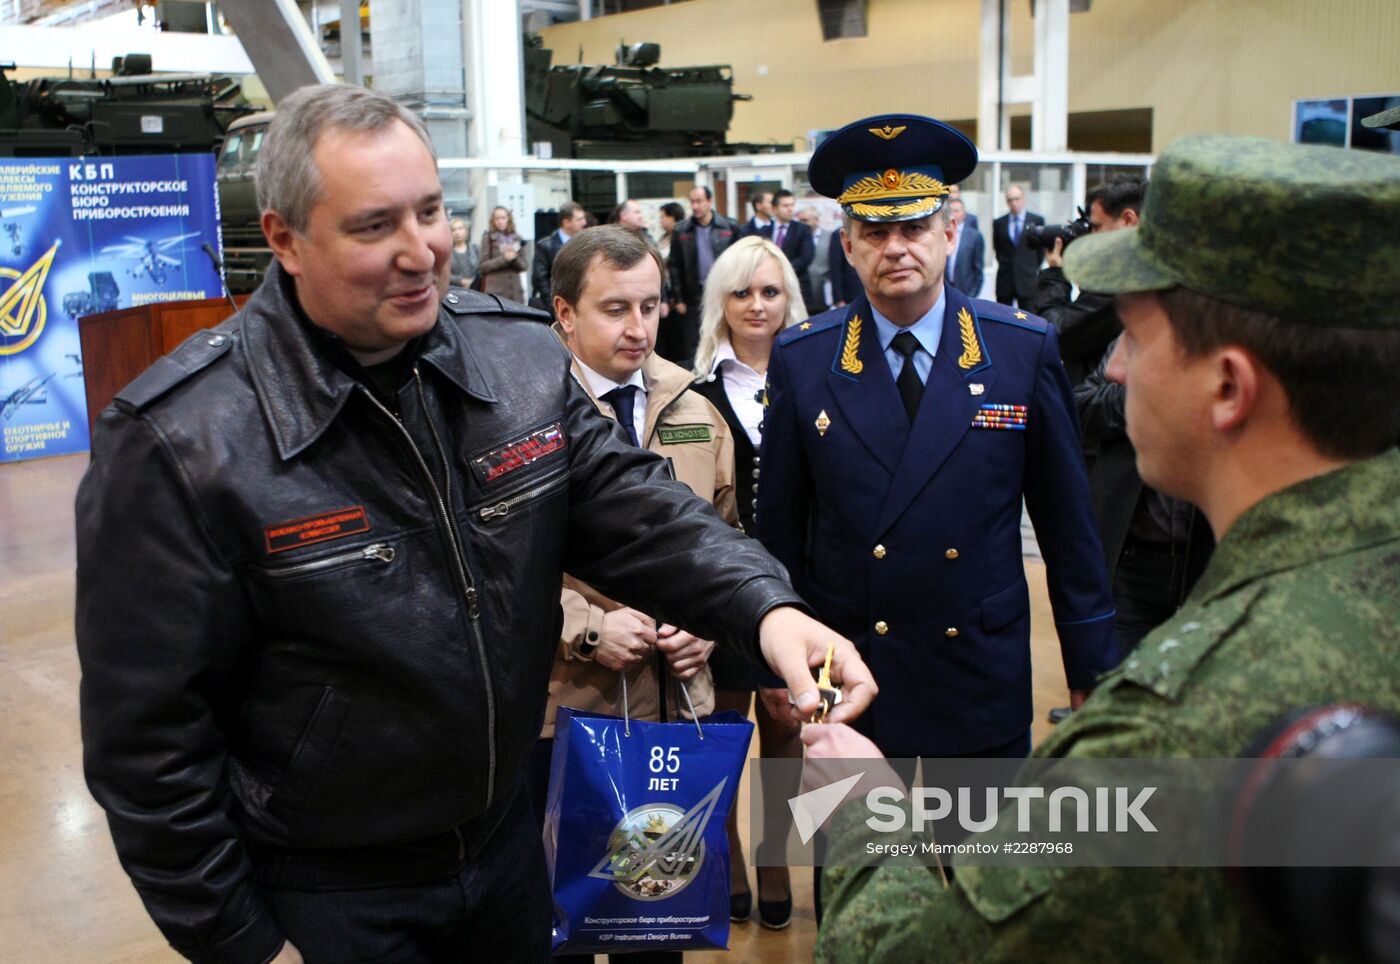
{"label": "soldier in green camouflage uniform and cap, seen from behind", "polygon": [[[1295,708],[1400,711],[1397,218],[1397,158],[1204,137],[1162,155],[1140,228],[1068,252],[1079,285],[1119,295],[1109,374],[1144,480],[1221,541],[1035,756],[1235,757]],[[841,726],[804,742],[876,756]],[[833,828],[818,960],[1292,957],[1222,870],[967,867],[944,890],[855,866],[858,810]]]}

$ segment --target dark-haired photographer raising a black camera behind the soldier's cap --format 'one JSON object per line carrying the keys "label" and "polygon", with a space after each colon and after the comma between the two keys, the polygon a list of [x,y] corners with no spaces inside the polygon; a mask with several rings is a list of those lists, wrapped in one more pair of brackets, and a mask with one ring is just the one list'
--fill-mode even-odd
{"label": "dark-haired photographer raising a black camera behind the soldier's cap", "polygon": [[1060,358],[1071,385],[1082,382],[1098,367],[1123,325],[1113,311],[1112,295],[1081,291],[1078,298],[1070,298],[1070,281],[1063,267],[1064,249],[1085,234],[1137,225],[1145,193],[1145,178],[1114,175],[1089,192],[1088,215],[1079,208],[1079,217],[1068,224],[1026,228],[1026,246],[1046,249],[1046,267],[1040,270],[1033,311],[1058,332]]}

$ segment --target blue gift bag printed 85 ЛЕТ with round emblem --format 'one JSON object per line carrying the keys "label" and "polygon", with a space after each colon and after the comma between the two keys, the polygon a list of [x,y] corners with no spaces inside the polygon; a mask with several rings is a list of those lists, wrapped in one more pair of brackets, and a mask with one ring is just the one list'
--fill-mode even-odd
{"label": "blue gift bag printed 85 \u041b\u0415\u0422 with round emblem", "polygon": [[727,947],[729,841],[753,723],[559,708],[545,807],[556,953]]}

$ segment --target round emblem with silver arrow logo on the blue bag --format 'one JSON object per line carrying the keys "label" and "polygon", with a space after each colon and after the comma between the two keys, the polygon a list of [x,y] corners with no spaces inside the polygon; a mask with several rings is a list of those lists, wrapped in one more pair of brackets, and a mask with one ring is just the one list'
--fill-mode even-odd
{"label": "round emblem with silver arrow logo on the blue bag", "polygon": [[647,803],[629,811],[608,835],[608,855],[589,877],[612,880],[627,897],[659,901],[686,888],[704,863],[704,828],[728,778],[682,811]]}

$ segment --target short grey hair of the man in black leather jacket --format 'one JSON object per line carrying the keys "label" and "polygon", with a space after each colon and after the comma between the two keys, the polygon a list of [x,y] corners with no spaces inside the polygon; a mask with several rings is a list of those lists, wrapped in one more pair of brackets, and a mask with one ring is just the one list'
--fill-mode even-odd
{"label": "short grey hair of the man in black leather jacket", "polygon": [[277,105],[258,153],[258,210],[276,211],[297,234],[307,231],[321,200],[316,141],[328,130],[381,132],[402,120],[437,162],[423,122],[384,94],[347,84],[302,87]]}

